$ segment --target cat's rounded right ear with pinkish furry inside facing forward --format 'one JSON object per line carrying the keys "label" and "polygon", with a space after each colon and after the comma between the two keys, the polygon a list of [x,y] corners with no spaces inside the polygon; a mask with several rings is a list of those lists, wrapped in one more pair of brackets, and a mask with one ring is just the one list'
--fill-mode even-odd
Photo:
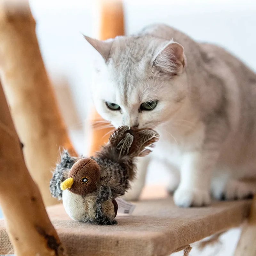
{"label": "cat's rounded right ear with pinkish furry inside facing forward", "polygon": [[184,48],[182,45],[170,42],[156,55],[153,66],[164,73],[179,75],[185,66]]}

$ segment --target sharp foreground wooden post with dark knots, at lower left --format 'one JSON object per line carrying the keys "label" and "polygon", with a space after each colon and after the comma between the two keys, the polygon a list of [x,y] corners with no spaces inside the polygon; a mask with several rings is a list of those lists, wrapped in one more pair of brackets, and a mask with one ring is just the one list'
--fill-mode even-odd
{"label": "sharp foreground wooden post with dark knots, at lower left", "polygon": [[0,138],[0,203],[15,255],[66,255],[25,165],[1,84]]}

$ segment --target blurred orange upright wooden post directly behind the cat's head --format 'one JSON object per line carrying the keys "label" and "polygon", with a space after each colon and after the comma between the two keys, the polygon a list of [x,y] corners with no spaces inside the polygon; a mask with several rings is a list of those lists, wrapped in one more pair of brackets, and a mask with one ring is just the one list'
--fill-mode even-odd
{"label": "blurred orange upright wooden post directly behind the cat's head", "polygon": [[[121,0],[101,0],[100,6],[100,29],[99,39],[106,40],[116,36],[124,35],[124,12]],[[100,115],[93,110],[92,124],[102,120]],[[106,125],[106,124],[105,124]],[[108,141],[111,128],[97,129],[92,127],[92,145],[90,154],[93,155],[100,149],[100,146]],[[105,136],[105,137],[104,137]]]}

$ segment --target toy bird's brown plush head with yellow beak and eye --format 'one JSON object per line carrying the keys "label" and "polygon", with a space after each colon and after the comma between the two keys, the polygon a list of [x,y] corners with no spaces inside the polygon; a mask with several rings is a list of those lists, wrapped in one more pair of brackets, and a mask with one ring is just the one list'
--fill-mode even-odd
{"label": "toy bird's brown plush head with yellow beak and eye", "polygon": [[92,158],[78,160],[68,172],[68,179],[64,180],[60,188],[86,196],[97,189],[100,180],[100,166]]}

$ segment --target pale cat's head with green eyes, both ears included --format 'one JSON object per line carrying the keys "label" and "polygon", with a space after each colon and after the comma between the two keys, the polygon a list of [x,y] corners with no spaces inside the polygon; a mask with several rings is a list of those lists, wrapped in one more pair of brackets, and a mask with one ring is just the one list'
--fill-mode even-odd
{"label": "pale cat's head with green eyes, both ears included", "polygon": [[182,106],[188,89],[181,45],[151,37],[87,40],[101,54],[93,101],[98,113],[115,127],[155,128]]}

